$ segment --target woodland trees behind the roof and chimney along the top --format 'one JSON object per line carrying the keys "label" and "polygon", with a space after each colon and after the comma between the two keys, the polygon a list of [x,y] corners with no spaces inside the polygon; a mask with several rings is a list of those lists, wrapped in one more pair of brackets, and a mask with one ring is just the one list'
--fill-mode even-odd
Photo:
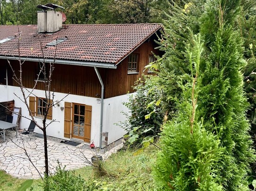
{"label": "woodland trees behind the roof and chimney along the top", "polygon": [[[182,0],[176,0],[182,3]],[[162,23],[172,0],[51,0],[64,7],[66,23]],[[0,0],[0,24],[36,24],[46,0]],[[62,11],[62,10],[58,10]]]}

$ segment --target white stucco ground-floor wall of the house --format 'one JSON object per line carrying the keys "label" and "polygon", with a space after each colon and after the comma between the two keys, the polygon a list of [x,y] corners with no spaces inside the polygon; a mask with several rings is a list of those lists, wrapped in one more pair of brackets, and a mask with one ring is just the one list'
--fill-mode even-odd
{"label": "white stucco ground-floor wall of the house", "polygon": [[[31,89],[29,89],[31,91]],[[15,95],[15,94],[17,95]],[[33,90],[33,94],[38,97],[44,97],[44,91]],[[54,101],[63,99],[66,94],[55,92]],[[28,96],[28,92],[26,92]],[[32,95],[33,96],[33,95]],[[28,109],[25,104],[18,98],[22,98],[22,93],[19,87],[0,85],[0,101],[15,100],[15,107],[22,108],[22,115],[30,117]],[[116,126],[114,123],[125,120],[125,116],[121,114],[121,111],[128,112],[128,109],[123,106],[122,102],[127,101],[128,95],[117,96],[114,98],[104,99],[103,105],[103,126],[102,131],[108,132],[108,144],[113,141],[122,138],[126,133],[122,128]],[[29,98],[27,99],[29,102]],[[91,140],[93,140],[96,146],[99,146],[99,128],[100,128],[100,103],[97,98],[68,95],[59,103],[59,107],[52,108],[52,119],[58,122],[53,122],[47,128],[47,135],[62,139],[64,138],[64,110],[61,111],[60,107],[64,107],[65,102],[73,102],[79,104],[85,104],[92,106],[91,112]],[[41,123],[40,117],[35,117],[37,122]],[[51,120],[47,120],[49,123]],[[30,121],[25,118],[20,120],[20,128],[28,128]],[[42,133],[39,128],[36,127],[35,132]]]}

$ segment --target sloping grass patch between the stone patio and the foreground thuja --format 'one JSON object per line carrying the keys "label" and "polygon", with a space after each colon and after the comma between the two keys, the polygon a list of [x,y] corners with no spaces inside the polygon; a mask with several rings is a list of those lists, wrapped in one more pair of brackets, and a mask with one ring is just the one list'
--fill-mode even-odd
{"label": "sloping grass patch between the stone patio and the foreground thuja", "polygon": [[[104,183],[102,187],[120,191],[151,191],[154,188],[151,176],[157,149],[150,146],[144,153],[134,156],[135,151],[120,151],[103,163],[105,176],[97,176],[95,170],[76,170],[87,182]],[[98,188],[99,189],[99,188]]]}

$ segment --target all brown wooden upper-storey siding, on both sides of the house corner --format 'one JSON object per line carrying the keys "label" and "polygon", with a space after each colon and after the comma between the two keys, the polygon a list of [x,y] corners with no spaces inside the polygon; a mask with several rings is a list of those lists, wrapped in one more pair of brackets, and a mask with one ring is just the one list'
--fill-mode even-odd
{"label": "all brown wooden upper-storey siding, on both sides of the house corner", "polygon": [[[104,83],[104,98],[134,92],[132,88],[134,82],[136,82],[142,74],[150,74],[148,73],[148,69],[145,69],[145,66],[149,63],[149,55],[152,54],[152,52],[157,55],[159,54],[159,51],[154,49],[157,45],[154,43],[153,39],[154,38],[145,41],[133,51],[133,53],[139,54],[138,74],[128,74],[128,56],[117,65],[117,69],[99,68],[99,73]],[[18,62],[11,61],[11,64],[17,72],[19,70]],[[23,84],[27,88],[33,88],[34,86],[38,67],[37,64],[37,62],[31,61],[26,61],[23,64]],[[12,80],[12,83],[18,86],[14,80]],[[43,90],[43,83],[38,82],[35,88]],[[74,65],[55,64],[51,86],[51,91],[53,90],[55,92],[94,98],[100,98],[101,95],[101,85],[94,68]]]}

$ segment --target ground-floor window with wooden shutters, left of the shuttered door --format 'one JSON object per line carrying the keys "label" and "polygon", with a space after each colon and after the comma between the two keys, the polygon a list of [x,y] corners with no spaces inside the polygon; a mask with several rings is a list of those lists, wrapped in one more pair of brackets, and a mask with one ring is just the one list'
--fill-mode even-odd
{"label": "ground-floor window with wooden shutters, left of the shuttered door", "polygon": [[[50,99],[50,104],[52,100]],[[46,112],[46,99],[38,97],[29,97],[29,109],[33,116],[43,116]],[[52,119],[52,107],[49,108],[47,119]]]}

